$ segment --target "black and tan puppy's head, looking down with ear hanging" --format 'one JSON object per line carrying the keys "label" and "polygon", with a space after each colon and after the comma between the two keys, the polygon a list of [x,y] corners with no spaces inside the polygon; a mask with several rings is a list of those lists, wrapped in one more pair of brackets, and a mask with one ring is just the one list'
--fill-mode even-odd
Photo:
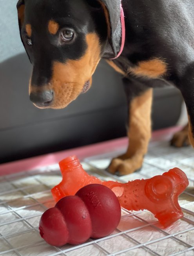
{"label": "black and tan puppy's head, looking down with ear hanging", "polygon": [[118,15],[109,0],[19,0],[20,36],[33,65],[29,94],[35,106],[64,108],[89,89],[100,59],[116,55],[120,0],[115,2]]}

